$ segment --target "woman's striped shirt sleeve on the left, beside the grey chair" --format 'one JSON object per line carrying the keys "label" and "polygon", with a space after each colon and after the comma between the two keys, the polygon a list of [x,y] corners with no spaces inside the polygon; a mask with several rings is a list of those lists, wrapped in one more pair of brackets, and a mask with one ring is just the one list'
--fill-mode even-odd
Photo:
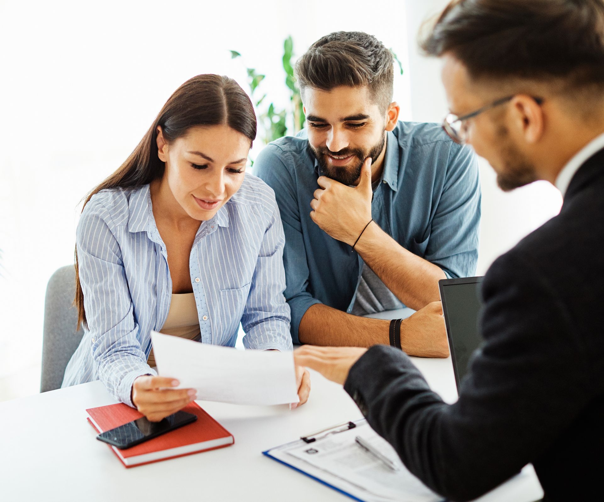
{"label": "woman's striped shirt sleeve on the left, beside the grey chair", "polygon": [[77,228],[80,285],[98,378],[116,399],[133,406],[135,378],[152,374],[137,339],[138,324],[126,280],[120,245],[109,211],[89,202]]}

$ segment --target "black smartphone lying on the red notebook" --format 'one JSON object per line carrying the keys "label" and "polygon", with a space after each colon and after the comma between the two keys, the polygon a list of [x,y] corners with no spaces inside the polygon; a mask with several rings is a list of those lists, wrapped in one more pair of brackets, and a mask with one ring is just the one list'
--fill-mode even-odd
{"label": "black smartphone lying on the red notebook", "polygon": [[132,422],[124,423],[115,429],[104,431],[97,436],[99,441],[109,443],[120,449],[130,448],[161,436],[183,425],[197,420],[197,416],[185,411],[177,411],[175,414],[165,417],[160,422],[150,422],[146,417],[142,417]]}

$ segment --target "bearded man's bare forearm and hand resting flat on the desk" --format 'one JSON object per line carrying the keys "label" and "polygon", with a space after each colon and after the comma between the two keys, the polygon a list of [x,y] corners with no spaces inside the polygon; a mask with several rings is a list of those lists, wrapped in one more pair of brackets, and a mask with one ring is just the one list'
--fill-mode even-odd
{"label": "bearded man's bare forearm and hand resting flat on the desk", "polygon": [[[410,356],[447,357],[449,350],[442,316],[416,312],[400,324],[400,346]],[[346,314],[323,304],[304,313],[298,327],[300,343],[331,347],[371,347],[390,344],[390,321]]]}

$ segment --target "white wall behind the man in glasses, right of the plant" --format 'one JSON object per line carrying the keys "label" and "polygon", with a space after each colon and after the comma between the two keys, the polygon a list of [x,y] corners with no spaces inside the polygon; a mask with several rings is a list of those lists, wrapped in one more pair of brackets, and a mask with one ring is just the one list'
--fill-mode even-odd
{"label": "white wall behind the man in glasses, right of the plant", "polygon": [[[419,54],[417,33],[420,25],[437,14],[445,0],[406,0],[406,22],[411,79],[411,116],[416,121],[442,121],[448,106],[440,81],[440,62]],[[540,181],[504,193],[497,187],[495,173],[480,159],[483,194],[480,249],[477,275],[513,245],[559,213],[560,192],[551,184]]]}

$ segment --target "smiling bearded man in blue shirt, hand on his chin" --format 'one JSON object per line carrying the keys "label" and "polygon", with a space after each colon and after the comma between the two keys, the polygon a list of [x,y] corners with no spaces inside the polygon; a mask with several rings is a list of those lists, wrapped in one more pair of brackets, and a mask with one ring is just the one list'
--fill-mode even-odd
{"label": "smiling bearded man in blue shirt, hand on his chin", "polygon": [[[313,43],[295,68],[307,128],[269,144],[254,169],[283,220],[294,343],[446,357],[438,281],[474,274],[478,168],[439,125],[398,121],[393,70],[366,33]],[[403,306],[418,312],[360,317]]]}

